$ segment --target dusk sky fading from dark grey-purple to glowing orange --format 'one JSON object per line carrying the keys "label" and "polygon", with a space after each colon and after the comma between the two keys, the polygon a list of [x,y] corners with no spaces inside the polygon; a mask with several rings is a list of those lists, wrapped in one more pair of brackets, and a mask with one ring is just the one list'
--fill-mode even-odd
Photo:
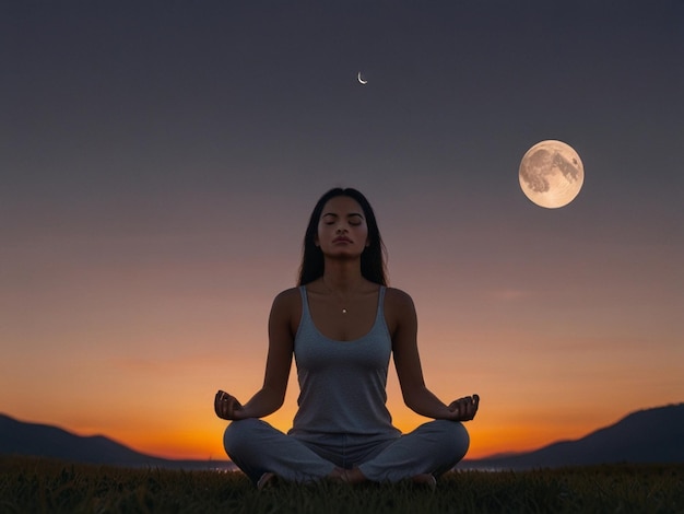
{"label": "dusk sky fading from dark grey-purple to glowing orange", "polygon": [[[0,61],[1,412],[225,458],[214,394],[261,386],[335,186],[374,206],[427,386],[482,398],[468,457],[684,400],[679,0],[2,2]],[[559,209],[518,182],[546,139],[585,167]],[[393,370],[388,397],[425,421]]]}

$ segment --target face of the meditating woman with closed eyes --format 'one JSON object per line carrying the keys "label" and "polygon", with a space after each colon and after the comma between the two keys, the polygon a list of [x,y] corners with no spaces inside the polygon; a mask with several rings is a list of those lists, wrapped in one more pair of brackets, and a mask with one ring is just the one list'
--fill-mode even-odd
{"label": "face of the meditating woman with closed eyes", "polygon": [[331,198],[318,220],[316,244],[323,255],[357,257],[368,246],[368,225],[364,210],[346,196]]}

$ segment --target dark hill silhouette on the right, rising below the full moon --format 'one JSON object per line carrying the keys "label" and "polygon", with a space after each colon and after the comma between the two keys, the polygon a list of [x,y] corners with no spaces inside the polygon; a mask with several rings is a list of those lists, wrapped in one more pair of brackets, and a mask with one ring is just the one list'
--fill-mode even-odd
{"label": "dark hill silhouette on the right, rising below the full moon", "polygon": [[616,463],[684,464],[684,404],[640,410],[577,441],[463,460],[460,469],[531,469]]}

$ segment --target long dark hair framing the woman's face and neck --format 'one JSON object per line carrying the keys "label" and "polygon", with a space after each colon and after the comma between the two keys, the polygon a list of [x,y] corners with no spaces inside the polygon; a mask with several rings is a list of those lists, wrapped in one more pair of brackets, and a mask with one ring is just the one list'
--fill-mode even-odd
{"label": "long dark hair framing the woman's face and neck", "polygon": [[304,249],[302,253],[302,266],[299,267],[299,280],[298,285],[305,285],[314,280],[323,276],[323,253],[316,246],[316,238],[318,236],[318,222],[320,220],[323,207],[331,198],[335,197],[350,197],[358,202],[364,211],[366,218],[366,225],[368,226],[368,246],[361,254],[361,274],[366,279],[380,285],[387,285],[387,268],[386,268],[386,255],[385,244],[382,237],[380,237],[380,231],[378,223],[375,219],[375,212],[373,207],[366,199],[366,197],[356,189],[351,187],[341,188],[335,187],[326,192],[320,199],[311,218],[309,224],[306,227],[306,234],[304,235]]}

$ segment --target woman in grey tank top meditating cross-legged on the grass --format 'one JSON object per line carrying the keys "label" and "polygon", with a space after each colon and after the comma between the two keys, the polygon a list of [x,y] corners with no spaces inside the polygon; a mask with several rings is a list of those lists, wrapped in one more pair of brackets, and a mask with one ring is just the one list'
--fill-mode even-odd
{"label": "woman in grey tank top meditating cross-legged on the grass", "polygon": [[[276,476],[434,487],[465,455],[461,422],[474,418],[480,398],[447,406],[427,389],[416,332],[413,301],[387,288],[373,208],[355,189],[331,189],[311,213],[298,288],[273,301],[263,387],[245,405],[216,393],[216,414],[233,421],[226,453],[259,487]],[[404,435],[385,405],[390,354],[404,402],[434,420]],[[283,405],[293,355],[300,393],[284,434],[260,418]]]}

